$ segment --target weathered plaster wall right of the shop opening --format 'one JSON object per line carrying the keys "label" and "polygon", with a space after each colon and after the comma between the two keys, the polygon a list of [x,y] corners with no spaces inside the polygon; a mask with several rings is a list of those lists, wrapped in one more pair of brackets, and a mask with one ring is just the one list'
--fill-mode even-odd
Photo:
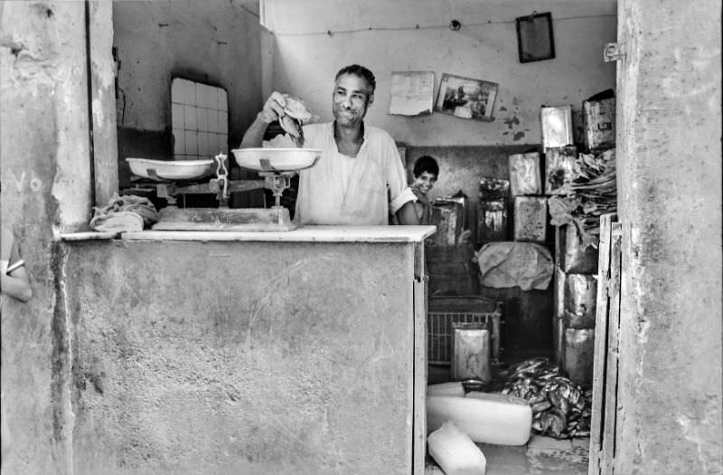
{"label": "weathered plaster wall right of the shop opening", "polygon": [[615,473],[720,473],[720,3],[619,8]]}

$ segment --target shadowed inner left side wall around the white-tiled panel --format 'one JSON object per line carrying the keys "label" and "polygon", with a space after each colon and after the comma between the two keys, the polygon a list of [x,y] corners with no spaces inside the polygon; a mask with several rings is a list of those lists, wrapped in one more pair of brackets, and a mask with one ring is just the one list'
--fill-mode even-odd
{"label": "shadowed inner left side wall around the white-tiled panel", "polygon": [[263,105],[261,27],[253,2],[113,2],[120,70],[117,100],[121,185],[127,157],[172,159],[171,81],[175,76],[229,94],[230,147]]}

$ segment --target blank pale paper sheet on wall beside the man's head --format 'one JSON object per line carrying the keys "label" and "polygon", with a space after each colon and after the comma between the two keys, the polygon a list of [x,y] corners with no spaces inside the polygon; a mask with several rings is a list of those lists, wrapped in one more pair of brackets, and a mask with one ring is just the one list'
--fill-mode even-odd
{"label": "blank pale paper sheet on wall beside the man's head", "polygon": [[434,89],[435,73],[432,71],[392,71],[390,114],[431,114]]}

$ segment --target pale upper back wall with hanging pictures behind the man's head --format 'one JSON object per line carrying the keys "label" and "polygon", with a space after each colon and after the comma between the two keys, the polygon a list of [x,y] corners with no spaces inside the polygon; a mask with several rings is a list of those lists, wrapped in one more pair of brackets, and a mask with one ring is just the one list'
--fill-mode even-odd
{"label": "pale upper back wall with hanging pictures behind the man's head", "polygon": [[[615,64],[603,62],[604,44],[615,41],[614,0],[267,0],[262,7],[277,36],[277,90],[302,97],[329,120],[336,71],[366,65],[377,76],[370,122],[408,145],[539,144],[541,105],[578,110],[582,100],[615,87]],[[552,13],[557,57],[522,64],[515,18],[533,11]],[[459,31],[447,27],[453,19]],[[391,71],[434,71],[435,99],[442,73],[498,82],[495,120],[390,116]]]}

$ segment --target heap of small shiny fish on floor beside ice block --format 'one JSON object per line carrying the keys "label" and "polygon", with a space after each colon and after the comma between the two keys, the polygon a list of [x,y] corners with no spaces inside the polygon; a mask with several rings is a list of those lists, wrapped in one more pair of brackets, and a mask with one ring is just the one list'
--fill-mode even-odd
{"label": "heap of small shiny fish on floor beside ice block", "polygon": [[498,376],[502,394],[524,398],[532,407],[532,430],[556,439],[590,435],[592,391],[584,391],[547,358],[533,358]]}

